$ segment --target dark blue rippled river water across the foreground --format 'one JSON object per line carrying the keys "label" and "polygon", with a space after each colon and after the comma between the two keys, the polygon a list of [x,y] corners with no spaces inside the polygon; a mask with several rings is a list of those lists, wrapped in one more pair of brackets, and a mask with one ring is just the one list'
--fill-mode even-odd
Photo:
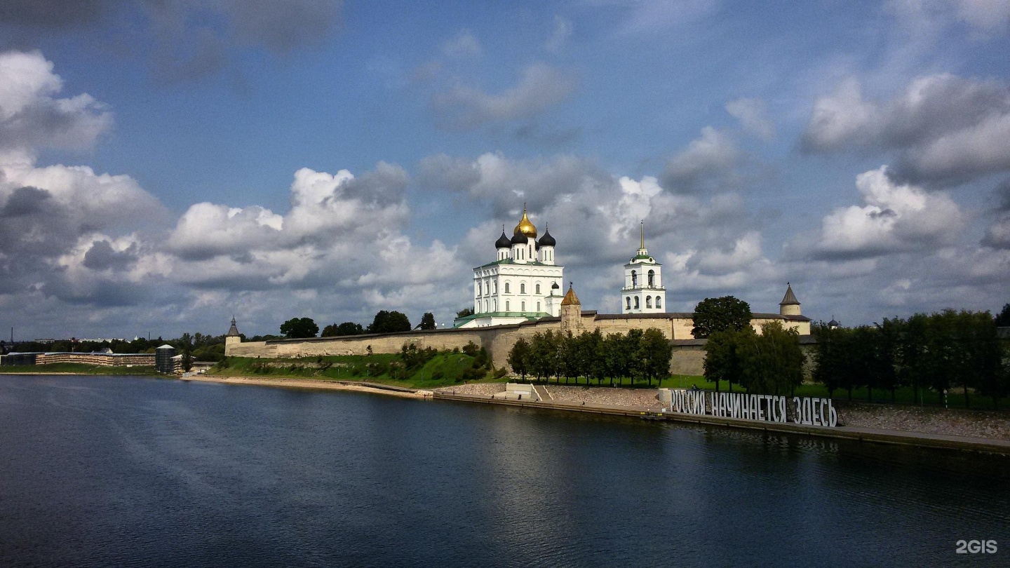
{"label": "dark blue rippled river water across the foreground", "polygon": [[1006,566],[1007,466],[355,392],[0,376],[0,565]]}

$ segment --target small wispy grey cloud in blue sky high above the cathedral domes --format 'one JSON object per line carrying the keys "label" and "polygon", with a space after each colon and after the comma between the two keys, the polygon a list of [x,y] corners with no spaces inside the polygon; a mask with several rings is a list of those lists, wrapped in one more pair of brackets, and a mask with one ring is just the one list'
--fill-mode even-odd
{"label": "small wispy grey cloud in blue sky high above the cathedral domes", "polygon": [[544,63],[522,70],[518,83],[500,94],[458,85],[431,97],[430,107],[443,126],[476,128],[489,122],[534,116],[575,91],[575,76]]}

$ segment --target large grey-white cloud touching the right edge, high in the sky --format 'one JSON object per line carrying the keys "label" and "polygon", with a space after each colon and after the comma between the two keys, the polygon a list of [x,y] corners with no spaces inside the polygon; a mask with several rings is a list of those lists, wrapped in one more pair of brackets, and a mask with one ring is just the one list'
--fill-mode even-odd
{"label": "large grey-white cloud touching the right edge, high in the sky", "polygon": [[1010,89],[941,74],[875,101],[849,79],[814,103],[802,145],[819,153],[894,151],[892,173],[921,183],[1010,171]]}

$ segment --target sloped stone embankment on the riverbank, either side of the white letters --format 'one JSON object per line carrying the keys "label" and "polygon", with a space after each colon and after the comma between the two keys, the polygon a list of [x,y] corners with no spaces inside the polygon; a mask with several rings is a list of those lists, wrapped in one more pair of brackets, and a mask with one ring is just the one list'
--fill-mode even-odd
{"label": "sloped stone embankment on the riverbank, either side of the white letters", "polygon": [[[659,410],[654,388],[610,388],[546,385],[557,402],[589,406],[627,406]],[[504,383],[465,384],[435,389],[446,394],[490,396],[505,390]],[[1010,412],[945,409],[930,406],[869,404],[834,399],[838,425],[880,431],[910,432],[1010,441]]]}

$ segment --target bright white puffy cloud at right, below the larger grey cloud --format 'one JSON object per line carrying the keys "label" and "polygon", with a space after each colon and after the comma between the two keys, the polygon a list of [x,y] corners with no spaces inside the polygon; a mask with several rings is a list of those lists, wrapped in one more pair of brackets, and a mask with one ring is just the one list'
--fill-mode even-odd
{"label": "bright white puffy cloud at right, below the larger grey cloud", "polygon": [[[815,258],[869,258],[951,244],[964,224],[961,208],[944,193],[900,184],[887,167],[855,178],[866,203],[838,208],[822,220]],[[800,245],[802,248],[802,245]]]}

